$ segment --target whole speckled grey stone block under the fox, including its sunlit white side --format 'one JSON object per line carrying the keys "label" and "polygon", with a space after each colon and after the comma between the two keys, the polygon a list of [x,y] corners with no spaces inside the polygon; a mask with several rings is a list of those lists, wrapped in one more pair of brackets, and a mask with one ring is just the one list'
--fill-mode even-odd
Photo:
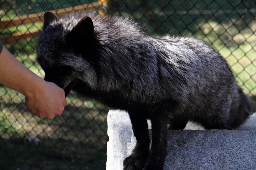
{"label": "whole speckled grey stone block under the fox, including its sunlit white side", "polygon": [[[256,114],[236,130],[204,130],[188,122],[186,130],[170,130],[165,170],[256,169]],[[122,170],[123,160],[136,145],[129,115],[108,114],[107,170]]]}

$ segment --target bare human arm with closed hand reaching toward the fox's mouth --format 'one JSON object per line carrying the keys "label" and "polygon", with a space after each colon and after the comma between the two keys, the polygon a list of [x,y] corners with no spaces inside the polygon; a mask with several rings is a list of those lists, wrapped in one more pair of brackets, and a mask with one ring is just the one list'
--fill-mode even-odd
{"label": "bare human arm with closed hand reaching toward the fox's mouth", "polygon": [[4,46],[0,53],[0,83],[25,95],[27,109],[39,118],[60,115],[67,103],[63,89],[31,72]]}

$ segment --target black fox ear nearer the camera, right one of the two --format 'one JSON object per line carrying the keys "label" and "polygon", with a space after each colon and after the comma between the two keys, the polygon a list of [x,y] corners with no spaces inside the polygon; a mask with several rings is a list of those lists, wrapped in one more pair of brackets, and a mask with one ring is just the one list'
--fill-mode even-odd
{"label": "black fox ear nearer the camera, right one of the two", "polygon": [[86,45],[88,39],[93,36],[94,25],[90,17],[82,18],[67,35],[67,41],[75,46]]}

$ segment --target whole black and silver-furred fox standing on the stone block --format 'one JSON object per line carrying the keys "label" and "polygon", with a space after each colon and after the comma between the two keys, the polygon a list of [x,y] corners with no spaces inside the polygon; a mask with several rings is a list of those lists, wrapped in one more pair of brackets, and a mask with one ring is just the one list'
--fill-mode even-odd
{"label": "whole black and silver-furred fox standing on the stone block", "polygon": [[190,120],[233,129],[252,111],[225,59],[209,45],[151,37],[127,18],[46,12],[37,53],[45,80],[66,96],[72,90],[128,111],[137,144],[124,170],[163,169],[168,128],[183,129]]}

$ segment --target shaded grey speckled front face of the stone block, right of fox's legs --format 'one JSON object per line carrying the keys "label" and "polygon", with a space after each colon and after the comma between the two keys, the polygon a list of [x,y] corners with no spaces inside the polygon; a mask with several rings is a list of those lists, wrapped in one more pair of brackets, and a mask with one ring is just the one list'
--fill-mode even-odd
{"label": "shaded grey speckled front face of the stone block, right of fox's legs", "polygon": [[165,170],[256,169],[256,131],[171,130]]}

